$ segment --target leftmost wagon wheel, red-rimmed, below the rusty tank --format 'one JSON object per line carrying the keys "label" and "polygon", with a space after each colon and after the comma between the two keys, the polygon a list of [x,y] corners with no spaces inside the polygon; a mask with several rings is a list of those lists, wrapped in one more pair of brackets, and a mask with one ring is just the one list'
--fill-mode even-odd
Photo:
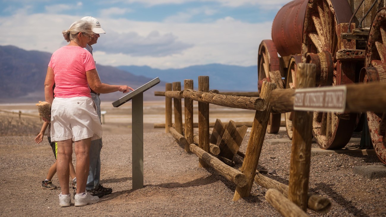
{"label": "leftmost wagon wheel, red-rimmed, below the rusty tank", "polygon": [[[276,83],[278,88],[281,87],[281,75],[279,72],[280,61],[275,44],[272,40],[263,40],[259,46],[259,55],[257,57],[257,67],[259,72],[258,88],[261,89],[263,81]],[[281,114],[270,114],[267,126],[268,133],[279,132]]]}

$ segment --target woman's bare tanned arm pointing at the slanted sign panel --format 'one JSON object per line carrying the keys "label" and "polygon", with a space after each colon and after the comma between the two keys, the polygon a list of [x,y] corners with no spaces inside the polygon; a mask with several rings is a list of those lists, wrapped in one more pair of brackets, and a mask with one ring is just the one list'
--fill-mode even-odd
{"label": "woman's bare tanned arm pointing at the slanted sign panel", "polygon": [[97,93],[112,93],[117,91],[127,93],[130,90],[134,90],[133,88],[127,85],[108,85],[108,84],[102,83],[100,81],[98,71],[96,69],[86,71],[86,76],[87,76],[88,85],[90,85],[91,90]]}

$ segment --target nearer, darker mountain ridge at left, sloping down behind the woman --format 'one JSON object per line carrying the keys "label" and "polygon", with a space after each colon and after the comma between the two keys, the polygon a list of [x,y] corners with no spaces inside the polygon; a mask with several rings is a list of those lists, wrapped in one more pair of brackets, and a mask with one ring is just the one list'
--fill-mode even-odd
{"label": "nearer, darker mountain ridge at left, sloping down behind the woman", "polygon": [[[44,80],[51,53],[25,51],[15,46],[0,46],[0,103],[44,101]],[[137,76],[112,66],[97,64],[103,83],[129,85],[132,88],[151,81],[153,78]],[[164,91],[161,81],[144,93],[145,100],[159,100],[154,91]],[[102,94],[101,100],[115,101],[124,96],[122,92]]]}

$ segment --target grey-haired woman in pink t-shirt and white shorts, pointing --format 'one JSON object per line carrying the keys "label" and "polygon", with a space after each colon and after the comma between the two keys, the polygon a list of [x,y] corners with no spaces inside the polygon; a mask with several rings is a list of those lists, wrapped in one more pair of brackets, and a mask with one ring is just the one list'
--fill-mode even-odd
{"label": "grey-haired woman in pink t-shirt and white shorts, pointing", "polygon": [[93,56],[83,49],[93,34],[91,24],[78,20],[62,33],[69,44],[52,54],[44,81],[44,93],[46,101],[52,104],[51,141],[58,142],[57,171],[62,190],[59,205],[68,207],[71,203],[68,165],[74,142],[77,179],[75,206],[84,206],[99,201],[97,196],[86,192],[91,140],[102,137],[102,126],[91,99],[90,87],[97,93],[127,93],[134,89],[127,85],[101,83]]}

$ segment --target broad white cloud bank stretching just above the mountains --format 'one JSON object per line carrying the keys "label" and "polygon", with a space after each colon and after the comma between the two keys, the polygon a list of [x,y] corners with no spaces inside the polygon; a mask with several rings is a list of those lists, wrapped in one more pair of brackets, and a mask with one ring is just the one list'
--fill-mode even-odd
{"label": "broad white cloud bank stretching just above the mountains", "polygon": [[[52,53],[65,44],[61,31],[78,19],[78,16],[63,14],[0,17],[0,45]],[[93,46],[99,64],[148,65],[153,68],[182,68],[209,63],[257,64],[259,44],[263,39],[271,38],[272,25],[271,21],[253,24],[232,17],[205,24],[99,20],[107,32],[101,34]]]}

